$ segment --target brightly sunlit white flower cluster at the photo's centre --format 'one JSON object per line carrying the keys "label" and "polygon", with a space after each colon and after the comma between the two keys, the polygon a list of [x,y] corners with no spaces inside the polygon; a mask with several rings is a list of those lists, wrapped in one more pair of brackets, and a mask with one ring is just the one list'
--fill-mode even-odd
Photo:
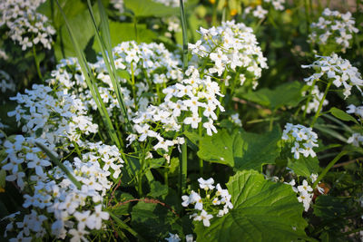
{"label": "brightly sunlit white flower cluster at the photo's centre", "polygon": [[[201,79],[198,69],[190,66],[186,71],[187,79],[177,82],[162,90],[166,95],[164,102],[159,106],[150,105],[146,111],[139,111],[132,119],[133,129],[137,134],[131,134],[127,139],[146,140],[147,137],[156,138],[159,142],[153,147],[154,150],[169,150],[174,144],[182,144],[183,139],[164,140],[157,131],[152,131],[152,125],[162,127],[162,131],[181,131],[184,125],[191,125],[192,129],[198,129],[200,125],[208,135],[217,132],[213,121],[217,120],[215,111],[219,108],[224,111],[217,97],[221,96],[220,86],[211,81],[210,76]],[[162,124],[162,125],[160,125]],[[153,125],[155,126],[155,125]]]}

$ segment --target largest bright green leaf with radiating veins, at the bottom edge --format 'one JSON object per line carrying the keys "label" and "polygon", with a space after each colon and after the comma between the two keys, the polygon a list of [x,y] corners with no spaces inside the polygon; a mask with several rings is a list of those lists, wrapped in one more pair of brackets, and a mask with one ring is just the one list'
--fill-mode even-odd
{"label": "largest bright green leaf with radiating veins, at the bottom edge", "polygon": [[233,207],[211,226],[196,223],[197,241],[296,241],[309,239],[303,207],[289,185],[265,180],[257,171],[238,171],[227,183]]}

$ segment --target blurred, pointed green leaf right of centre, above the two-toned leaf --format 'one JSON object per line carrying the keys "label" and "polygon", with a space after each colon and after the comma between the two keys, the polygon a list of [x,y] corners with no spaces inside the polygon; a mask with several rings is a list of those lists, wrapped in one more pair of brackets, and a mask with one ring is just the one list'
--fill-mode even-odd
{"label": "blurred, pointed green leaf right of centre, above the two-toned leaf", "polygon": [[300,82],[283,83],[274,90],[262,88],[257,92],[238,93],[241,98],[251,102],[257,102],[271,110],[277,110],[283,106],[295,107],[304,97],[301,96],[303,84]]}

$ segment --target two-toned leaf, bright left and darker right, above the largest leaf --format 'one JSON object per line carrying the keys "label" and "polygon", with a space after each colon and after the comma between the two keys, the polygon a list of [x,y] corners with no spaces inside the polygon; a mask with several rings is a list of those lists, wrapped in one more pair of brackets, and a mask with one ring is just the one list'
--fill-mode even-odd
{"label": "two-toned leaf, bright left and darker right, above the largest leaf", "polygon": [[264,164],[273,164],[279,156],[277,143],[280,138],[278,129],[263,134],[238,130],[230,134],[222,130],[201,139],[198,156],[202,160],[221,163],[234,169],[260,171]]}

